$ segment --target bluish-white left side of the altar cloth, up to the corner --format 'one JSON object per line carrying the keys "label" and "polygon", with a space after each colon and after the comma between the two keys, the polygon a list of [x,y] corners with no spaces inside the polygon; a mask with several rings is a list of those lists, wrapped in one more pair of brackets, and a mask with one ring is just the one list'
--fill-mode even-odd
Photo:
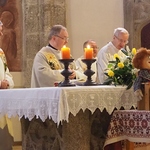
{"label": "bluish-white left side of the altar cloth, up to the corner", "polygon": [[0,115],[25,116],[29,120],[47,117],[57,122],[59,88],[24,88],[0,90]]}

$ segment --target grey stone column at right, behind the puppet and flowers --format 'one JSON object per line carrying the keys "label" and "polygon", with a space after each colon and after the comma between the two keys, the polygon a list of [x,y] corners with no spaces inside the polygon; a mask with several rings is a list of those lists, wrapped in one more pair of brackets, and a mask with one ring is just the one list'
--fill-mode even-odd
{"label": "grey stone column at right, behind the puppet and flowers", "polygon": [[141,47],[141,30],[150,22],[149,8],[149,0],[124,0],[124,26],[130,34],[130,48]]}

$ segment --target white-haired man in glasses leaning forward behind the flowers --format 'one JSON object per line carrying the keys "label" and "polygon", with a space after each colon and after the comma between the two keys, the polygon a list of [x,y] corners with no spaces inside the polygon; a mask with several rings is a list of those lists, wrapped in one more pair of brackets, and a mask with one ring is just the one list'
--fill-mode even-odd
{"label": "white-haired man in glasses leaning forward behind the flowers", "polygon": [[103,84],[106,76],[104,72],[108,67],[109,61],[112,61],[114,54],[118,54],[120,57],[125,57],[125,54],[121,51],[122,48],[128,43],[129,33],[124,28],[116,28],[114,30],[113,39],[107,43],[98,52],[97,59],[97,70],[98,70],[98,81]]}

